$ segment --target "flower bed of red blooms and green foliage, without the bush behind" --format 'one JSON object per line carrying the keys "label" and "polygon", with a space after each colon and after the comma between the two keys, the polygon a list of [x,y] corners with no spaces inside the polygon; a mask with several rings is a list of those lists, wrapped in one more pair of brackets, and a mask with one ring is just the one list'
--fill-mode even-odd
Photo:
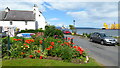
{"label": "flower bed of red blooms and green foliage, without the bush behind", "polygon": [[[3,59],[32,58],[55,59],[73,63],[82,63],[86,60],[83,48],[71,42],[73,38],[58,39],[53,37],[12,38],[10,50],[3,48]],[[51,58],[50,58],[51,57]]]}

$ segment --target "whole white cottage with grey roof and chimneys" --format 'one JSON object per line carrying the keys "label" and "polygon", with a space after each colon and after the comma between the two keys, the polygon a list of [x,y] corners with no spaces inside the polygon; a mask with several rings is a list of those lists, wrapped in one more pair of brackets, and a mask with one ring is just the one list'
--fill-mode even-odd
{"label": "whole white cottage with grey roof and chimneys", "polygon": [[42,12],[38,10],[36,5],[32,11],[10,10],[8,7],[5,11],[0,11],[0,26],[17,27],[20,30],[25,29],[45,29],[46,21]]}

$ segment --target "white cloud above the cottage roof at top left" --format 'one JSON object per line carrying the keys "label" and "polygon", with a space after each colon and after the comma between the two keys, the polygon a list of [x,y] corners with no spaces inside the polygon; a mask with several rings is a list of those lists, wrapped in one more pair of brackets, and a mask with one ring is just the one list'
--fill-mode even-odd
{"label": "white cloud above the cottage roof at top left", "polygon": [[9,7],[11,10],[32,10],[34,4],[37,4],[41,11],[45,11],[43,6],[43,0],[2,0],[0,1],[0,10],[4,10]]}

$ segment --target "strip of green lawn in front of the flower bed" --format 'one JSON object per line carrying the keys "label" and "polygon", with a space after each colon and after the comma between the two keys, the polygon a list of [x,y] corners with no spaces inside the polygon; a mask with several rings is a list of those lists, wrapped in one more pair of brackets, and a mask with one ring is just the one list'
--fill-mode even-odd
{"label": "strip of green lawn in front of the flower bed", "polygon": [[13,60],[3,60],[2,66],[101,66],[101,65],[95,62],[95,60],[93,59],[90,59],[90,62],[87,64],[74,64],[74,63],[63,62],[59,60],[49,60],[49,59],[13,59]]}

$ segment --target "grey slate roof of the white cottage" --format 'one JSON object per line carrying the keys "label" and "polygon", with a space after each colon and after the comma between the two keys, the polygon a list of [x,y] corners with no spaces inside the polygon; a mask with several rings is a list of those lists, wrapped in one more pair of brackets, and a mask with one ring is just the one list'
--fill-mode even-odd
{"label": "grey slate roof of the white cottage", "polygon": [[[5,18],[4,18],[5,17]],[[34,21],[35,16],[33,11],[10,10],[7,14],[5,11],[0,11],[1,21]]]}

